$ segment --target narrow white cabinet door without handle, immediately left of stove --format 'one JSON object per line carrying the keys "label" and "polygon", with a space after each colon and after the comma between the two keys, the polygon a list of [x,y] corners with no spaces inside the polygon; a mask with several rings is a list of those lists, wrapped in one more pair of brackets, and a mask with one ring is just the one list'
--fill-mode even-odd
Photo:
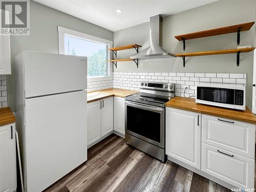
{"label": "narrow white cabinet door without handle, immediately left of stove", "polygon": [[124,135],[124,98],[114,97],[114,130]]}

